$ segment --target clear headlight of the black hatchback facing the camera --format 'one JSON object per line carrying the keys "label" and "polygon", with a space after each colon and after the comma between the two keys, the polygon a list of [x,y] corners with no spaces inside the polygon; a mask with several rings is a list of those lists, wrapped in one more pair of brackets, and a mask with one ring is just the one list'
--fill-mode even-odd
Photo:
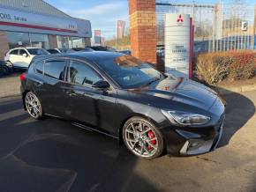
{"label": "clear headlight of the black hatchback facing the camera", "polygon": [[161,110],[170,122],[181,125],[203,125],[210,121],[210,117],[202,114],[192,114],[180,111]]}

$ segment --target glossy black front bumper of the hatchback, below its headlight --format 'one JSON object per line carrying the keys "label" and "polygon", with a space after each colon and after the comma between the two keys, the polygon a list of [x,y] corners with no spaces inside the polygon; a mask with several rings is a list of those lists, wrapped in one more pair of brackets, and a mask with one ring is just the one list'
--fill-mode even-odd
{"label": "glossy black front bumper of the hatchback, below its headlight", "polygon": [[224,114],[212,127],[174,128],[162,130],[170,156],[193,156],[214,151],[222,138]]}

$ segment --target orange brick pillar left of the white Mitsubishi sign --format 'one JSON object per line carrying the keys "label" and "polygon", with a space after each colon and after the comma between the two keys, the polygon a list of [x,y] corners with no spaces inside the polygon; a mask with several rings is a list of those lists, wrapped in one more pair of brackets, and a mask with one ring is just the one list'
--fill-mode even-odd
{"label": "orange brick pillar left of the white Mitsubishi sign", "polygon": [[156,62],[155,0],[129,0],[132,55]]}

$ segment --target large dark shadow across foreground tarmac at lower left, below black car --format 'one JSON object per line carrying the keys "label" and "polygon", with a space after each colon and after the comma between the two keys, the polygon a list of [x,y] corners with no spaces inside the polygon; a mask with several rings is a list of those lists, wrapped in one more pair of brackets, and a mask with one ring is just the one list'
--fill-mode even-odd
{"label": "large dark shadow across foreground tarmac at lower left, below black car", "polygon": [[55,118],[34,121],[13,101],[0,103],[0,191],[157,191],[117,140]]}

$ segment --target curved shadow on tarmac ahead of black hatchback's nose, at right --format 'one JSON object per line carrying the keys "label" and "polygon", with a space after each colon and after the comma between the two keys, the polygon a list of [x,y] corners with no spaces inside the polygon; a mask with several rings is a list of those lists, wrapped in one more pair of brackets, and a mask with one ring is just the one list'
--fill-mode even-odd
{"label": "curved shadow on tarmac ahead of black hatchback's nose, at right", "polygon": [[248,122],[253,114],[255,114],[255,106],[252,100],[246,98],[243,94],[237,92],[230,92],[228,90],[222,98],[226,100],[226,118],[222,139],[218,148],[223,147],[230,143],[230,139],[237,133],[237,131]]}

